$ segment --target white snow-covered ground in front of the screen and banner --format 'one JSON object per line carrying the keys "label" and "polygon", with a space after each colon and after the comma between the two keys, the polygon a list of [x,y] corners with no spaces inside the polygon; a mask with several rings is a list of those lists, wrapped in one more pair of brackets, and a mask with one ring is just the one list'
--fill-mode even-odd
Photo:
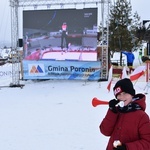
{"label": "white snow-covered ground in front of the screen and banner", "polygon": [[[137,56],[136,60],[138,64]],[[105,101],[114,98],[112,89],[106,89],[107,82],[21,83],[25,84],[23,89],[0,90],[0,150],[106,150],[108,137],[100,133],[99,124],[108,106],[93,107],[91,102],[94,97]],[[144,93],[145,87],[146,82],[134,83],[136,93]],[[150,94],[146,97],[150,114]]]}

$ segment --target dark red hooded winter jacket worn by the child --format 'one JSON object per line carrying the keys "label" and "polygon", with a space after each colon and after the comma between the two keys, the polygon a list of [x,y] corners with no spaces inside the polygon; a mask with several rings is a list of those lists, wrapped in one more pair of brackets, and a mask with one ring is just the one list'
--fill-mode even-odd
{"label": "dark red hooded winter jacket worn by the child", "polygon": [[113,150],[115,140],[125,144],[127,150],[150,150],[150,120],[145,113],[145,95],[135,97],[139,99],[133,103],[137,103],[141,110],[113,113],[108,109],[100,124],[101,133],[110,136],[106,150]]}

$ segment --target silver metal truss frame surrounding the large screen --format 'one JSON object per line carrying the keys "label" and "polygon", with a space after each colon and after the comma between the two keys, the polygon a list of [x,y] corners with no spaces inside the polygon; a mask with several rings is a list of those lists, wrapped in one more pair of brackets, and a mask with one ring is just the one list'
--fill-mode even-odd
{"label": "silver metal truss frame surrounding the large screen", "polygon": [[[89,7],[90,4],[94,4],[97,7],[101,7],[101,44],[98,46],[101,47],[101,75],[100,80],[108,78],[108,20],[109,20],[109,6],[110,0],[10,0],[10,7],[11,7],[11,47],[12,51],[17,52],[17,56],[12,56],[12,83],[10,86],[12,87],[20,87],[20,54],[18,53],[19,47],[19,20],[18,20],[18,9],[30,9],[37,10],[39,6],[45,7],[45,9],[51,9],[52,6],[60,6],[60,9],[65,8],[67,5],[72,5],[74,8],[77,5],[83,5],[83,7]],[[107,31],[105,30],[107,29]],[[107,41],[103,43],[103,40]]]}

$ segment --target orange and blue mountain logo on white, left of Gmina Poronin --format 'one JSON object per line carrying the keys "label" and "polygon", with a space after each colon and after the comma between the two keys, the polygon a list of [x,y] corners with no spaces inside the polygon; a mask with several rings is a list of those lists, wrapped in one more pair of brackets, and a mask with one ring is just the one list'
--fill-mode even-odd
{"label": "orange and blue mountain logo on white, left of Gmina Poronin", "polygon": [[44,76],[45,70],[43,64],[29,64],[29,75],[33,76]]}

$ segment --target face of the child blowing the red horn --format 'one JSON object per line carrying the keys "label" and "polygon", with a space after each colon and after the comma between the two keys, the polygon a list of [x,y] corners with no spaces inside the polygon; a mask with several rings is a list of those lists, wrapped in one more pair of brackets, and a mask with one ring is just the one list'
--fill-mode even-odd
{"label": "face of the child blowing the red horn", "polygon": [[124,106],[127,106],[132,101],[133,96],[129,93],[122,92],[117,95],[117,99],[124,102]]}

